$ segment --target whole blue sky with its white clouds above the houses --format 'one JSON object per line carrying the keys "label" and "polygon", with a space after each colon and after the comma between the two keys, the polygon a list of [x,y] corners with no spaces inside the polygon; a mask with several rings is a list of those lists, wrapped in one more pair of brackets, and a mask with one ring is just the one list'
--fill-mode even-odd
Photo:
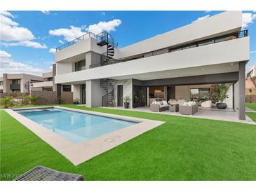
{"label": "whole blue sky with its white clouds above the houses", "polygon": [[[88,30],[109,30],[122,48],[217,13],[221,11],[1,12],[1,74],[40,75],[49,71],[54,62],[50,48],[61,46]],[[244,29],[248,29],[250,35],[251,53],[247,67],[256,64],[255,21],[256,12],[243,11]]]}

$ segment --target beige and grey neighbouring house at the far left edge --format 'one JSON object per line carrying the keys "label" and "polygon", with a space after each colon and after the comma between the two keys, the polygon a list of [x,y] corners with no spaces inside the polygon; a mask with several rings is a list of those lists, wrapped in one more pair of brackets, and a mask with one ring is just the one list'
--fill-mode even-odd
{"label": "beige and grey neighbouring house at the far left edge", "polygon": [[0,78],[0,92],[29,92],[29,86],[34,82],[41,82],[41,76],[30,74],[3,74]]}

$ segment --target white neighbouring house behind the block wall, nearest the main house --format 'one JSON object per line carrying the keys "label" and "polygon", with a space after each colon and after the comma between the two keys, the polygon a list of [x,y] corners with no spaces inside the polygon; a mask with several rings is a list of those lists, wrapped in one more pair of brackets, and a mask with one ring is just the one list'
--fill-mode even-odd
{"label": "white neighbouring house behind the block wall, nearest the main house", "polygon": [[[54,76],[55,76],[55,64],[53,64],[53,71],[42,74],[43,82],[33,83],[32,90],[33,91],[56,91]],[[61,87],[62,87],[62,91],[64,92],[72,91],[71,85],[61,85]]]}

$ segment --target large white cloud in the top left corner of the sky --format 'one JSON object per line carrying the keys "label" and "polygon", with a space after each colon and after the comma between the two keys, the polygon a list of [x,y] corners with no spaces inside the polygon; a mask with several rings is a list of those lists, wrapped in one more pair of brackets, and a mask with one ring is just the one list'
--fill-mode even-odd
{"label": "large white cloud in the top left corner of the sky", "polygon": [[7,11],[0,12],[1,41],[5,41],[1,42],[1,45],[46,48],[46,45],[32,41],[35,37],[29,29],[20,27],[18,22],[15,22],[8,17],[15,18]]}

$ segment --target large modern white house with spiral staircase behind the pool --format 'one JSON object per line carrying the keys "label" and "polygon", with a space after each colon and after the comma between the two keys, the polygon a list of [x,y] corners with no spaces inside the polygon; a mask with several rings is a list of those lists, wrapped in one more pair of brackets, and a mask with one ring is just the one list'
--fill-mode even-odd
{"label": "large modern white house with spiral staircase behind the pool", "polygon": [[[229,107],[245,119],[245,64],[249,37],[241,11],[226,11],[124,48],[107,32],[85,34],[56,49],[61,85],[87,107],[143,107],[152,100],[207,100],[210,85],[231,83]],[[126,38],[126,36],[123,36]]]}

